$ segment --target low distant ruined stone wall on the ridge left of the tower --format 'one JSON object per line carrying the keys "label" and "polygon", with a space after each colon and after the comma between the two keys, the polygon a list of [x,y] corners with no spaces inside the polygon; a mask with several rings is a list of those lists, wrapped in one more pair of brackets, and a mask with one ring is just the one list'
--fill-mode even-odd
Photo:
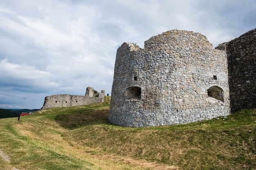
{"label": "low distant ruined stone wall on the ridge left of the tower", "polygon": [[47,108],[83,106],[93,103],[104,102],[105,91],[101,93],[95,91],[92,87],[87,87],[84,96],[80,95],[51,95],[45,97],[45,102],[41,110]]}

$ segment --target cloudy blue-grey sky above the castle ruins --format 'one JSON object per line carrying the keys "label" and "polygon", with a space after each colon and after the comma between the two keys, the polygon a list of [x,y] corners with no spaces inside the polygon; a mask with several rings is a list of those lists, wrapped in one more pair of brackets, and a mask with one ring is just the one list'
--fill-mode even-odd
{"label": "cloudy blue-grey sky above the castle ruins", "polygon": [[0,0],[0,108],[48,95],[111,95],[117,48],[171,29],[213,47],[256,28],[255,0]]}

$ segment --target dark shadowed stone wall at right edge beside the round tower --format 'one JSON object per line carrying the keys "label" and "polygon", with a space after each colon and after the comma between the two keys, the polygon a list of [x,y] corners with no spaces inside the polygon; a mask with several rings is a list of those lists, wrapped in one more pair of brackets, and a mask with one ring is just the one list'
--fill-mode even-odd
{"label": "dark shadowed stone wall at right edge beside the round tower", "polygon": [[256,29],[220,44],[227,53],[231,111],[256,107]]}

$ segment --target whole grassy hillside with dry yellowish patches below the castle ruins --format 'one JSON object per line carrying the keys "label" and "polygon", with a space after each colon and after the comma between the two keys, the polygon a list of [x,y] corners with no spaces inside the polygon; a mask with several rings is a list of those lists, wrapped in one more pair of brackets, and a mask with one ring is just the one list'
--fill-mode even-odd
{"label": "whole grassy hillside with dry yellowish patches below the castle ruins", "polygon": [[256,169],[256,109],[129,128],[109,123],[109,101],[0,119],[0,170]]}

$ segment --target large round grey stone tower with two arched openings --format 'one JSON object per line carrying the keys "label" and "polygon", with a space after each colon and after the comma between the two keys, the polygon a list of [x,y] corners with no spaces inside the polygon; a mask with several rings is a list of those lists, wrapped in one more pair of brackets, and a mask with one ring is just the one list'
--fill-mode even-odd
{"label": "large round grey stone tower with two arched openings", "polygon": [[153,36],[144,49],[117,50],[109,121],[121,126],[185,124],[229,115],[225,51],[207,38],[172,30]]}

